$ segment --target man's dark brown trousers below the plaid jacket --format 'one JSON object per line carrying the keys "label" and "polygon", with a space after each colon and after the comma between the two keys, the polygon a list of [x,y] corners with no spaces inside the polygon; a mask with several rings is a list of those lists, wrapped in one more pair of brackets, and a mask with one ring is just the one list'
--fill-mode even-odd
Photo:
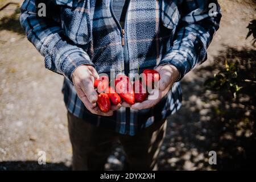
{"label": "man's dark brown trousers below the plaid jacket", "polygon": [[166,119],[155,122],[134,136],[121,135],[91,125],[68,112],[73,148],[73,170],[104,170],[112,144],[119,140],[126,154],[127,170],[156,170],[156,159],[166,133]]}

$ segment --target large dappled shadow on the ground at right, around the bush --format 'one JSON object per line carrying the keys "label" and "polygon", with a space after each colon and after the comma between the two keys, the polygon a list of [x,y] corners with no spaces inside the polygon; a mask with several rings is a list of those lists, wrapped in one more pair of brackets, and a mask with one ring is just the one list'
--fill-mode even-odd
{"label": "large dappled shadow on the ground at right, around the bush", "polygon": [[[247,88],[238,102],[204,89],[206,78],[225,68],[226,59],[240,61],[243,71],[255,75],[255,64],[248,64],[255,57],[254,49],[226,47],[214,65],[195,71],[198,80],[183,81],[183,107],[168,119],[159,169],[255,169],[255,97],[248,97],[255,88]],[[209,151],[217,152],[217,165],[209,165]]]}

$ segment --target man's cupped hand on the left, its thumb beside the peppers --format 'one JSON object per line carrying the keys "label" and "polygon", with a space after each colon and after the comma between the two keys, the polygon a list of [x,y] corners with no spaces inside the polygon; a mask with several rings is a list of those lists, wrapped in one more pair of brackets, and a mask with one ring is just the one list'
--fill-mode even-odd
{"label": "man's cupped hand on the left, its thumb beside the peppers", "polygon": [[72,75],[72,81],[75,85],[77,96],[79,96],[85,107],[93,114],[110,116],[113,115],[113,110],[120,109],[121,105],[111,106],[108,113],[104,113],[98,108],[96,102],[98,94],[94,89],[94,80],[98,78],[97,71],[91,65],[81,65],[77,67]]}

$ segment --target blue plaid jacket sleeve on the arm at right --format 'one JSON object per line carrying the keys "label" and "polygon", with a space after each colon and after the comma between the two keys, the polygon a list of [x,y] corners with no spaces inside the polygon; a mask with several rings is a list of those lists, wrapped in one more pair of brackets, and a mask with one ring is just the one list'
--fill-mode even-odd
{"label": "blue plaid jacket sleeve on the arm at right", "polygon": [[185,0],[180,11],[183,16],[177,27],[174,43],[159,63],[174,65],[180,72],[177,81],[196,65],[207,60],[207,48],[221,19],[217,0]]}

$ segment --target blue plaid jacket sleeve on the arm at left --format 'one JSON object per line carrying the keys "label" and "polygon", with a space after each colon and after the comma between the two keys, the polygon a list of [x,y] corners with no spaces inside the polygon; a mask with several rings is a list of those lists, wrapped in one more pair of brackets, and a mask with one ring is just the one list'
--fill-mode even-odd
{"label": "blue plaid jacket sleeve on the arm at left", "polygon": [[[47,6],[51,6],[51,12],[59,9],[55,3]],[[89,55],[65,36],[60,22],[51,15],[38,16],[36,0],[25,0],[20,10],[20,24],[28,40],[44,56],[47,69],[72,80],[72,73],[77,67],[82,64],[93,65]]]}

